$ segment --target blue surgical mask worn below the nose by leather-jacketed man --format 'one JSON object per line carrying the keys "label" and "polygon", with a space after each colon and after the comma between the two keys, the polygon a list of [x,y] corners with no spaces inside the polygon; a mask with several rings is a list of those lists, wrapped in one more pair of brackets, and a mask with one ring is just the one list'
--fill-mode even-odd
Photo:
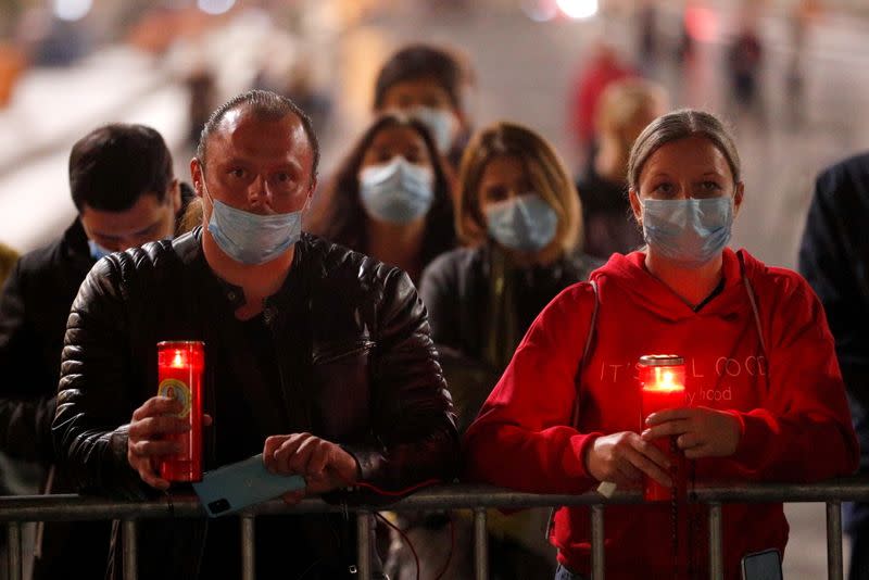
{"label": "blue surgical mask worn below the nose by leather-jacketed man", "polygon": [[[203,188],[204,188],[203,182]],[[209,231],[226,255],[242,264],[265,264],[286,252],[302,235],[302,210],[260,215],[212,200]]]}

